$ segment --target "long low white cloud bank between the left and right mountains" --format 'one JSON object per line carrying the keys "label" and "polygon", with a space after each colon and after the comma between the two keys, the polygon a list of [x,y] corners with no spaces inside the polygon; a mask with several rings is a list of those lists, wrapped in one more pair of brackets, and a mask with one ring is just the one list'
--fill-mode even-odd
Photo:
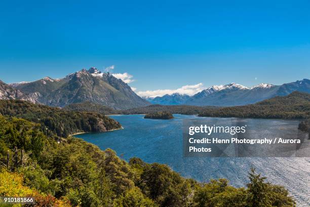
{"label": "long low white cloud bank between the left and right mountains", "polygon": [[163,96],[166,94],[171,95],[172,93],[180,93],[180,94],[187,94],[187,95],[194,95],[202,90],[206,89],[202,83],[196,85],[186,85],[182,86],[181,88],[172,90],[172,89],[159,89],[159,90],[148,90],[148,91],[139,91],[137,94],[142,97],[156,97],[156,96]]}

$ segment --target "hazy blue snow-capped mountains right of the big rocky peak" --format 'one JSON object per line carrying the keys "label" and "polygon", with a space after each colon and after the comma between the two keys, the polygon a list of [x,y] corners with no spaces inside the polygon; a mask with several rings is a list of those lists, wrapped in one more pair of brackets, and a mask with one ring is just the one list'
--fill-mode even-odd
{"label": "hazy blue snow-capped mountains right of the big rocky peak", "polygon": [[[280,86],[259,84],[246,87],[236,83],[209,87],[195,95],[164,95],[148,99],[160,105],[192,105],[192,106],[243,106],[275,96],[285,96],[293,91],[310,93],[310,80],[303,79]],[[177,98],[176,97],[185,97]]]}

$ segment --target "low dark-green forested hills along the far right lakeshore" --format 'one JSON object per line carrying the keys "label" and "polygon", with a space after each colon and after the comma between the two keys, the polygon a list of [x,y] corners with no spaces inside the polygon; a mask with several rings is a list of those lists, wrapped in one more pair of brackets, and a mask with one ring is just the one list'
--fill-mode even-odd
{"label": "low dark-green forested hills along the far right lakeshore", "polygon": [[[123,110],[122,114],[148,114],[170,112],[172,114],[197,115],[202,117],[236,117],[264,119],[309,119],[310,93],[294,91],[286,96],[276,96],[245,106],[212,107],[188,105],[150,105]],[[304,123],[307,131],[308,122]]]}

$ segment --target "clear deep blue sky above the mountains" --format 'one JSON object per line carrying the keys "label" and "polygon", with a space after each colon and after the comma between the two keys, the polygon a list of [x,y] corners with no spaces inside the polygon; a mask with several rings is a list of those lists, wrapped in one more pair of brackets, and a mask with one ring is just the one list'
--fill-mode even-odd
{"label": "clear deep blue sky above the mountains", "polygon": [[140,91],[292,82],[310,78],[309,11],[309,1],[2,1],[0,79],[115,65]]}

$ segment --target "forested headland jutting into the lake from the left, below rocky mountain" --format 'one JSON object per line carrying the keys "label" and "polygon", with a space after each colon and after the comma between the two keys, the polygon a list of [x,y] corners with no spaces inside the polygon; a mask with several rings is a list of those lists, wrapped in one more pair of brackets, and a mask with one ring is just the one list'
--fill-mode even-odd
{"label": "forested headland jutting into the lake from the left, below rocky mountain", "polygon": [[69,112],[22,100],[0,100],[0,114],[39,123],[46,135],[67,137],[78,132],[100,132],[121,127],[109,117],[91,112]]}

